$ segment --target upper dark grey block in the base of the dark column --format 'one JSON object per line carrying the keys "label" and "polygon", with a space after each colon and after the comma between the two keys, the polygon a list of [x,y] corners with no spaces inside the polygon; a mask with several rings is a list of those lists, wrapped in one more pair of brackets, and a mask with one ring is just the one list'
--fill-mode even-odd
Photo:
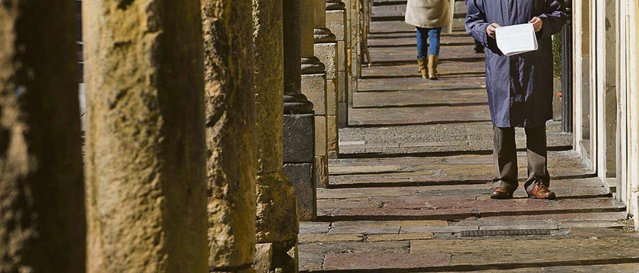
{"label": "upper dark grey block in the base of the dark column", "polygon": [[284,115],[284,162],[311,163],[313,161],[315,115]]}

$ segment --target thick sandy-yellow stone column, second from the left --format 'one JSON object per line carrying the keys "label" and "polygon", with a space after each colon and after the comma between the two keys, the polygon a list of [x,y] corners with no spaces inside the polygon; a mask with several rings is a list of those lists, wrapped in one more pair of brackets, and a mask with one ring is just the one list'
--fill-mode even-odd
{"label": "thick sandy-yellow stone column, second from the left", "polygon": [[82,5],[88,272],[208,270],[199,10]]}

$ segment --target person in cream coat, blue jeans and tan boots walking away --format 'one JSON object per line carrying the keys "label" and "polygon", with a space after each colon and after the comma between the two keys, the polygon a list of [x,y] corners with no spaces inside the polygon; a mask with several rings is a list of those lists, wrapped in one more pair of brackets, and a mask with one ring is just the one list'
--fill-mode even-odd
{"label": "person in cream coat, blue jeans and tan boots walking away", "polygon": [[449,0],[408,0],[406,4],[406,23],[417,31],[417,65],[422,78],[438,78],[440,36],[449,22]]}

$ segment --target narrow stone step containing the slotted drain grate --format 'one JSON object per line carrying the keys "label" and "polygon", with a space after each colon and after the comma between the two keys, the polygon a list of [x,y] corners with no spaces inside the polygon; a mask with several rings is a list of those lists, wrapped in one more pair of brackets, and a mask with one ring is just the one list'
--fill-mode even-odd
{"label": "narrow stone step containing the slotted drain grate", "polygon": [[337,221],[300,223],[300,244],[313,242],[380,242],[424,239],[564,239],[572,228],[632,228],[617,220],[470,220]]}

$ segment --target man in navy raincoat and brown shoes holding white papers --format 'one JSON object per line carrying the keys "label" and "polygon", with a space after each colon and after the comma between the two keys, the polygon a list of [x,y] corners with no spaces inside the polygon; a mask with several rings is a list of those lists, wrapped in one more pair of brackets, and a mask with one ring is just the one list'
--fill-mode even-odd
{"label": "man in navy raincoat and brown shoes holding white papers", "polygon": [[[566,23],[564,0],[468,0],[466,31],[486,47],[486,90],[495,129],[493,199],[512,198],[518,188],[515,127],[527,138],[530,198],[553,199],[546,149],[546,121],[552,118],[551,36]],[[532,23],[539,49],[506,56],[497,48],[495,29]]]}

